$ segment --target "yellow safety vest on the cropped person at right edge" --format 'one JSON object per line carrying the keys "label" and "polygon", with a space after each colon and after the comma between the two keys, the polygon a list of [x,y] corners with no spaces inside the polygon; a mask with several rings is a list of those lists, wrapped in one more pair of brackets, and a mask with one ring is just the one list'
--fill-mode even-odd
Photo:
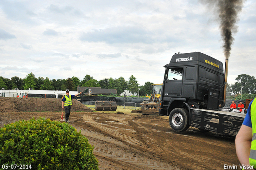
{"label": "yellow safety vest on the cropped person at right edge", "polygon": [[252,146],[249,156],[250,165],[256,167],[256,99],[251,105],[251,120],[252,120]]}

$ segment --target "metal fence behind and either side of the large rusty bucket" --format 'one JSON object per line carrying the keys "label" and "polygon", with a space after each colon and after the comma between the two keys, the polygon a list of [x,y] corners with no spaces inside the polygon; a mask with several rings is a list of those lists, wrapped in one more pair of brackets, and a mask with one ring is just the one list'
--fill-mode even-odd
{"label": "metal fence behind and either side of the large rusty bucket", "polygon": [[[82,104],[86,105],[88,108],[95,109],[95,101],[80,101]],[[127,108],[127,109],[140,109],[140,103],[134,102],[116,102],[116,105],[120,108]]]}

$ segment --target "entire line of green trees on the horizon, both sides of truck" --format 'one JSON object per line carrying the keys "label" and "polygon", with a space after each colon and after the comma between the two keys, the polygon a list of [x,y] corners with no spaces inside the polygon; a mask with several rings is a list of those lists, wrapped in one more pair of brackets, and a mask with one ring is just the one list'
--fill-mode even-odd
{"label": "entire line of green trees on the horizon, both sides of truck", "polygon": [[[0,88],[6,90],[14,88],[28,90],[29,88],[33,88],[34,90],[69,89],[71,91],[76,91],[78,86],[84,86],[116,89],[117,94],[119,95],[124,92],[124,90],[130,91],[132,94],[138,94],[138,88],[140,88],[140,96],[146,96],[147,94],[152,94],[152,90],[150,90],[151,84],[153,83],[146,82],[144,85],[140,86],[133,75],[129,77],[128,81],[123,77],[117,79],[110,77],[98,81],[88,74],[86,74],[82,80],[74,76],[67,79],[50,80],[48,77],[45,79],[43,77],[36,78],[32,73],[29,73],[24,79],[17,76],[12,77],[11,79],[0,76]],[[240,86],[244,86],[242,90]],[[241,91],[243,93],[243,99],[252,99],[256,97],[256,79],[254,76],[240,74],[236,77],[236,82],[234,84],[227,84],[227,95],[232,95],[229,97],[230,99],[241,100]]]}

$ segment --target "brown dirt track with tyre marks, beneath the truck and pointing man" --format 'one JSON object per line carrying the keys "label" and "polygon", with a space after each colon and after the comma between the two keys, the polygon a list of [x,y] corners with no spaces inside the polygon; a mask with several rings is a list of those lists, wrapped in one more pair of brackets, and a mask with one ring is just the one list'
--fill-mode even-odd
{"label": "brown dirt track with tyre marks, beneath the truck and pointing man", "polygon": [[[61,113],[1,112],[0,127],[39,116],[60,121]],[[234,138],[196,128],[176,133],[167,117],[88,110],[71,112],[70,125],[95,146],[100,170],[224,170],[224,164],[239,169]]]}

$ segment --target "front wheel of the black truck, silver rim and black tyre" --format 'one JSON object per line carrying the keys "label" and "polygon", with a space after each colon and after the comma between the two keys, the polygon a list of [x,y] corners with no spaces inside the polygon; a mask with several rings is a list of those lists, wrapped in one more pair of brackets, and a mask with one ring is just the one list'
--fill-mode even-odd
{"label": "front wheel of the black truck, silver rim and black tyre", "polygon": [[175,108],[170,112],[169,124],[176,132],[183,132],[189,128],[188,110]]}

